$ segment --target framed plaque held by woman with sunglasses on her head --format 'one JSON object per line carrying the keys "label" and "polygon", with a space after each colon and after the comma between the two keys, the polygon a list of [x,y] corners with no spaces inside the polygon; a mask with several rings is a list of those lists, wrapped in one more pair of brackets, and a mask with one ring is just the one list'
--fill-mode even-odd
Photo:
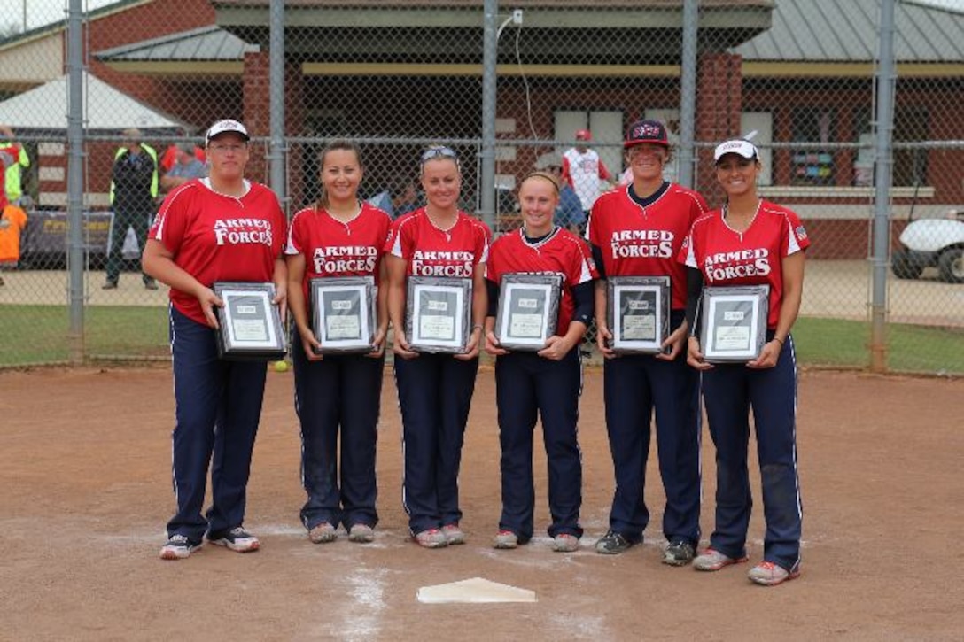
{"label": "framed plaque held by woman with sunglasses on her head", "polygon": [[415,352],[465,352],[471,312],[470,279],[409,277],[405,333]]}

